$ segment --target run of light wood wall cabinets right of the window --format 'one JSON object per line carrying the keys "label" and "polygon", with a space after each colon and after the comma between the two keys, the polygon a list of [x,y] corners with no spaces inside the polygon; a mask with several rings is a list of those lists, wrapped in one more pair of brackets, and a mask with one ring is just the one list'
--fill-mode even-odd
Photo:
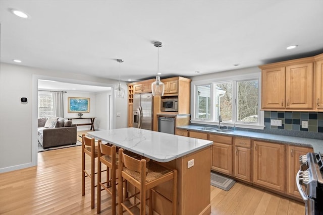
{"label": "run of light wood wall cabinets right of the window", "polygon": [[319,111],[317,101],[321,100],[323,94],[319,82],[322,81],[321,58],[316,62],[315,56],[259,66],[261,109]]}

